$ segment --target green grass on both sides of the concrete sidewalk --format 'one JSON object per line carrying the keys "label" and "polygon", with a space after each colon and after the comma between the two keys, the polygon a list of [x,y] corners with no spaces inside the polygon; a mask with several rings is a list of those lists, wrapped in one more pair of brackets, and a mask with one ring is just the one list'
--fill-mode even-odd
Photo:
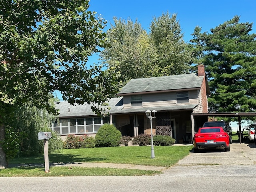
{"label": "green grass on both sides of the concrete sidewalk", "polygon": [[[147,166],[173,166],[187,156],[193,146],[154,146],[155,158],[151,159],[151,146],[108,147],[65,149],[49,154],[50,163],[102,162],[136,164]],[[15,158],[9,164],[44,164],[44,155]],[[154,175],[160,171],[132,170],[116,168],[50,167],[45,173],[44,167],[16,167],[0,170],[0,177],[14,176],[141,176]]]}

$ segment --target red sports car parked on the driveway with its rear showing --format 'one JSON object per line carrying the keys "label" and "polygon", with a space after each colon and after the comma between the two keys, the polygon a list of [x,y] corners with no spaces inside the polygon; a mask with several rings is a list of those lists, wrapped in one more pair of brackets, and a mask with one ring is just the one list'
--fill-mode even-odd
{"label": "red sports car parked on the driveway with its rear showing", "polygon": [[201,127],[194,134],[194,151],[206,148],[230,151],[229,136],[222,127]]}

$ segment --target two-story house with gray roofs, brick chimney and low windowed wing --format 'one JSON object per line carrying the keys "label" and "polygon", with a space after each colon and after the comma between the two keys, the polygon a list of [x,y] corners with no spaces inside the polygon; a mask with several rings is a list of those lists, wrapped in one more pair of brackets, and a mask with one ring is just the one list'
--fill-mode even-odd
{"label": "two-story house with gray roofs, brick chimney and low windowed wing", "polygon": [[52,129],[61,135],[96,134],[102,124],[110,123],[122,135],[150,134],[150,120],[145,112],[156,110],[153,135],[169,135],[176,142],[191,142],[194,132],[191,114],[208,113],[210,90],[204,66],[198,65],[198,73],[132,79],[118,96],[110,99],[110,116],[104,118],[97,117],[89,105],[70,106],[67,102],[58,102],[60,123],[52,124]]}

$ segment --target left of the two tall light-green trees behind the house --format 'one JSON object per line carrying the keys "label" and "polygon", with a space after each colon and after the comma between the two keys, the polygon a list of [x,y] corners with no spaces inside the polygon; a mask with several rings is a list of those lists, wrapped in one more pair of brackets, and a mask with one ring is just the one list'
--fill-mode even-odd
{"label": "left of the two tall light-green trees behind the house", "polygon": [[140,23],[114,18],[114,25],[107,32],[110,47],[101,57],[109,68],[120,74],[120,81],[152,76],[155,50]]}

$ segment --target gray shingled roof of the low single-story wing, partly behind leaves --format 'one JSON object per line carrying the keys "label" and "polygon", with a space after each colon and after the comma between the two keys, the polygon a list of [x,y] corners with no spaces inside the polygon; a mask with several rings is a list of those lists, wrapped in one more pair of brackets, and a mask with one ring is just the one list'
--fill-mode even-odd
{"label": "gray shingled roof of the low single-story wing, partly behind leaves", "polygon": [[[55,102],[56,109],[59,110],[59,118],[72,118],[79,116],[96,116],[94,112],[92,112],[91,105],[84,104],[75,106],[69,104],[68,102]],[[122,97],[119,98],[111,98],[109,100],[109,104],[106,107],[110,107],[110,110],[106,110],[106,112],[114,112],[119,111],[123,108]],[[68,112],[68,108],[70,108],[70,112]]]}

